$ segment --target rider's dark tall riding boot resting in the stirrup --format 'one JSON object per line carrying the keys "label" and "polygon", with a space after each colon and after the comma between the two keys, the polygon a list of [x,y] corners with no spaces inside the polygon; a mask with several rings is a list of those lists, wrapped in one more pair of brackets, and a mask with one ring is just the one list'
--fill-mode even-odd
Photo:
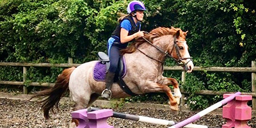
{"label": "rider's dark tall riding boot resting in the stirrup", "polygon": [[103,90],[103,92],[101,93],[102,98],[108,99],[108,100],[111,99],[111,95],[112,95],[111,87],[112,87],[112,84],[113,84],[113,81],[114,81],[114,77],[115,77],[115,73],[108,71],[108,73],[106,74],[106,79],[105,79],[106,89]]}

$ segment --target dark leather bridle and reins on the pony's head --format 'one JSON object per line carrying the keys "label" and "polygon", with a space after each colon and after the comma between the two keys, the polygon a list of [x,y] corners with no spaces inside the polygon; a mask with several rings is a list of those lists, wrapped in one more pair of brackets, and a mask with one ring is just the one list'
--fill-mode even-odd
{"label": "dark leather bridle and reins on the pony's head", "polygon": [[[145,32],[145,33],[148,33],[148,32]],[[161,49],[160,47],[157,47],[156,45],[152,44],[152,42],[150,42],[149,40],[147,40],[147,38],[145,38],[145,37],[142,37],[142,38],[143,38],[148,44],[152,45],[152,46],[155,47],[158,51],[162,52],[165,57],[168,56],[169,58],[173,58],[173,56],[172,56],[171,54],[172,54],[173,49],[174,49],[174,47],[175,47],[175,49],[176,49],[176,54],[177,54],[177,56],[178,56],[179,58],[178,58],[178,59],[173,58],[173,60],[175,60],[175,61],[178,63],[178,65],[180,65],[181,67],[186,67],[186,65],[188,65],[189,61],[193,61],[191,57],[190,57],[190,58],[182,58],[182,56],[180,56],[180,51],[179,51],[179,47],[178,47],[178,45],[177,45],[177,42],[186,43],[186,41],[179,41],[179,40],[177,40],[176,35],[175,35],[174,38],[173,38],[173,48],[172,48],[171,54],[169,54],[168,51],[163,51],[163,49]],[[138,49],[138,47],[136,47],[136,49],[137,49],[138,51],[140,51],[142,54],[145,54],[145,52],[142,52],[140,49]],[[163,64],[162,61],[156,60],[156,59],[154,59],[154,58],[148,56],[147,54],[145,54],[145,56],[147,56],[148,58],[150,58],[150,59],[152,59],[152,60],[155,60],[155,61],[158,61],[159,63]],[[187,63],[184,63],[184,62],[182,61],[182,60],[187,60],[187,59],[189,59],[189,61],[188,61]]]}

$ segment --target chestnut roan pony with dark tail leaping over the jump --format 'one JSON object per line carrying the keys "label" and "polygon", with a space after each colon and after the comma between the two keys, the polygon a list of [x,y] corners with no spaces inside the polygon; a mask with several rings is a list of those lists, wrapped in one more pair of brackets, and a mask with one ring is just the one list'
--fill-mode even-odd
{"label": "chestnut roan pony with dark tail leaping over the jump", "polygon": [[[194,65],[186,44],[187,32],[179,28],[156,28],[122,51],[127,64],[127,73],[123,79],[133,93],[139,95],[164,92],[170,100],[170,108],[179,110],[179,84],[176,79],[163,76],[163,63],[166,56],[169,56],[187,72],[192,72]],[[97,100],[105,88],[105,82],[93,79],[93,67],[96,62],[90,61],[77,68],[63,70],[54,87],[35,94],[34,97],[45,97],[40,102],[43,103],[42,109],[46,119],[49,118],[49,111],[53,111],[54,105],[58,108],[58,103],[68,88],[70,97],[76,102],[75,110],[87,108]],[[175,97],[168,87],[170,84],[174,87]],[[116,83],[111,91],[114,98],[131,97]]]}

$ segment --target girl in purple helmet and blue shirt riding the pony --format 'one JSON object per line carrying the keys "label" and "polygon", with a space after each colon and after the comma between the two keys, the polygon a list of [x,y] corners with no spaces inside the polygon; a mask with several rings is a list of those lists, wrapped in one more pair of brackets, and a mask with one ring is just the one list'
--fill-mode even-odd
{"label": "girl in purple helmet and blue shirt riding the pony", "polygon": [[140,22],[143,20],[145,10],[141,1],[131,1],[127,6],[128,14],[118,19],[119,24],[108,40],[110,66],[105,79],[106,89],[101,94],[104,99],[111,99],[111,87],[118,67],[120,50],[125,49],[134,38],[144,36],[143,31],[140,31]]}

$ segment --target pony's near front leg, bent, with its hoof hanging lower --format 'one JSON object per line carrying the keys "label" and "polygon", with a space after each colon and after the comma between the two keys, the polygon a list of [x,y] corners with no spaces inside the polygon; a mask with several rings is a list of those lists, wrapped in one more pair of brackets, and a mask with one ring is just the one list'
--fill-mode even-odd
{"label": "pony's near front leg, bent, with its hoof hanging lower", "polygon": [[168,86],[150,81],[150,82],[147,82],[146,87],[143,86],[143,88],[141,88],[141,91],[143,93],[148,93],[148,92],[164,92],[164,93],[166,93],[166,95],[168,96],[168,98],[170,100],[170,102],[169,102],[170,108],[174,111],[179,111],[177,100],[175,99],[175,97],[173,97],[172,90]]}

